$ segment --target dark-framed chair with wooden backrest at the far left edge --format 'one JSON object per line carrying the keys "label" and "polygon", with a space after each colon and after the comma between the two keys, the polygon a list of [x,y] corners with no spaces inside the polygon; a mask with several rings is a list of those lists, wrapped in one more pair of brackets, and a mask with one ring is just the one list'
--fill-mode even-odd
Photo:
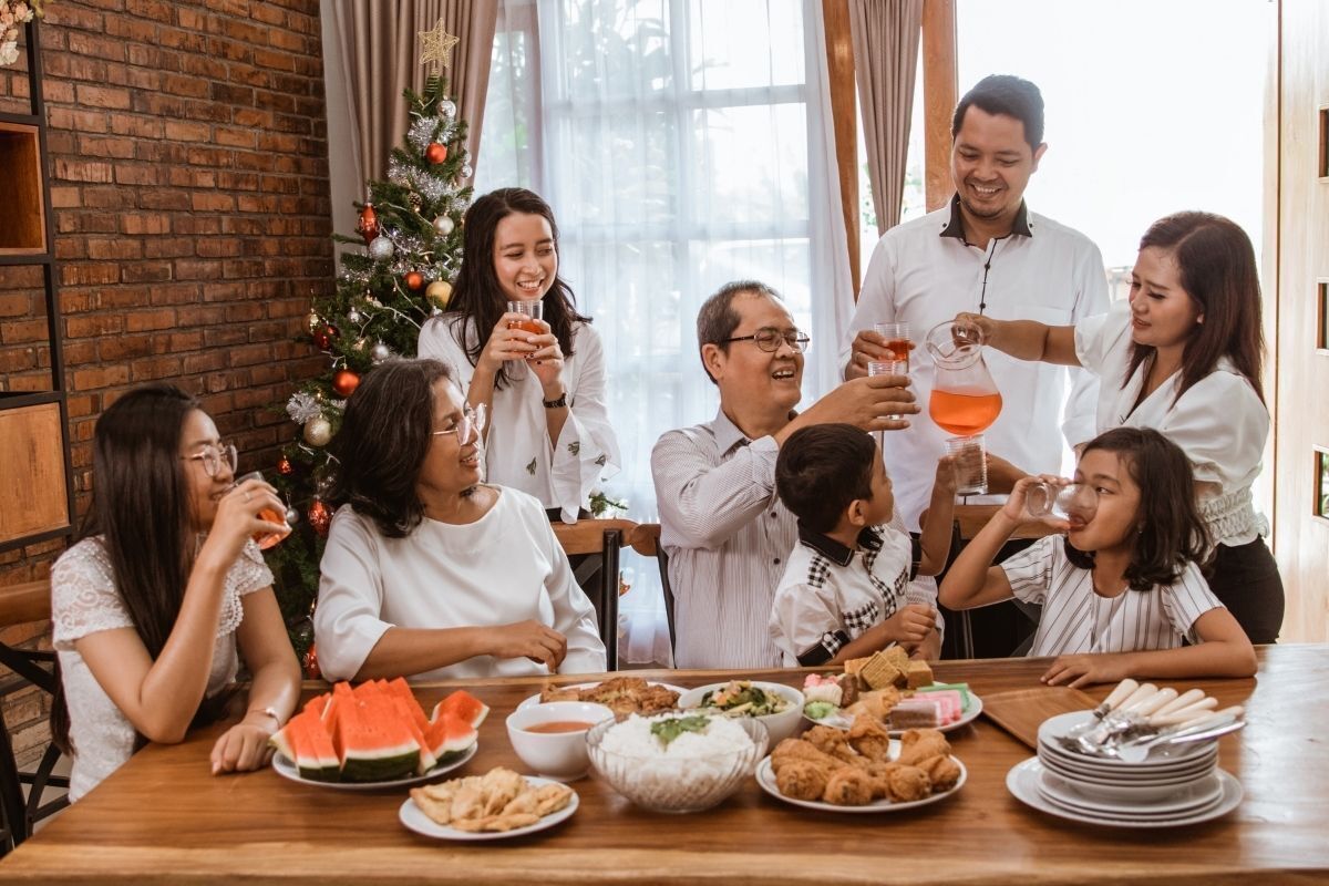
{"label": "dark-framed chair with wooden backrest at the far left edge", "polygon": [[[45,622],[51,619],[51,582],[28,582],[0,587],[0,627]],[[36,685],[51,695],[60,685],[60,663],[54,652],[44,650],[16,650],[0,643],[0,664],[13,676],[0,685],[0,699],[12,692]],[[47,745],[37,768],[20,772],[13,756],[9,728],[0,717],[0,810],[4,813],[4,836],[0,854],[32,836],[33,825],[69,805],[68,796],[47,804],[41,796],[48,786],[69,788],[69,778],[51,774],[60,760],[60,749]],[[31,785],[28,798],[23,798],[23,785]]]}

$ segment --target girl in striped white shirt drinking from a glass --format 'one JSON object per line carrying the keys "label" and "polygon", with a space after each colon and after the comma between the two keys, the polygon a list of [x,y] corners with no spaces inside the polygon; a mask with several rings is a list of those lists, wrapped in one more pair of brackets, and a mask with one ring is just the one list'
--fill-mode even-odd
{"label": "girl in striped white shirt drinking from a glass", "polygon": [[[1075,482],[1084,487],[1070,519],[1049,519],[1047,535],[993,566],[1023,522],[1026,477],[956,558],[941,584],[954,610],[1015,596],[1043,607],[1030,655],[1058,656],[1043,683],[1115,683],[1124,677],[1203,677],[1255,673],[1255,650],[1241,626],[1209,591],[1197,559],[1207,534],[1192,489],[1191,464],[1163,434],[1114,428],[1080,453]],[[1082,506],[1095,499],[1096,507]]]}

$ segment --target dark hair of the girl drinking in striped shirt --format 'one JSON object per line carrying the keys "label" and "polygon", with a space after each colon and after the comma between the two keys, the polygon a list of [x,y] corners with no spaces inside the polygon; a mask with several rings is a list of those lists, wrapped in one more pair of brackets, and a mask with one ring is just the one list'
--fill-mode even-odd
{"label": "dark hair of the girl drinking in striped shirt", "polygon": [[[1116,453],[1140,490],[1135,551],[1126,567],[1132,591],[1174,584],[1191,561],[1203,563],[1209,533],[1195,503],[1195,473],[1181,448],[1152,428],[1112,428],[1084,445],[1084,453]],[[1094,554],[1066,539],[1066,558],[1080,569],[1094,567]]]}

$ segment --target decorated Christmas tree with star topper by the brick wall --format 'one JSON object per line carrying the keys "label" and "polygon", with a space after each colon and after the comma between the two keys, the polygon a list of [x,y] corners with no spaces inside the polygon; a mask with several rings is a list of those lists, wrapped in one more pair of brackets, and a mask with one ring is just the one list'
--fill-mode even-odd
{"label": "decorated Christmas tree with star topper by the brick wall", "polygon": [[466,124],[444,94],[445,78],[437,69],[448,64],[456,37],[440,23],[421,39],[424,62],[435,65],[433,73],[423,94],[403,93],[411,105],[411,126],[401,146],[392,150],[388,181],[371,181],[368,199],[358,205],[356,230],[365,252],[343,254],[336,292],[314,298],[310,339],[328,365],[320,376],[302,383],[284,404],[298,428],[268,477],[288,505],[294,531],[267,551],[267,563],[302,659],[312,643],[310,615],[332,521],[324,498],[336,460],[327,446],[340,428],[346,399],[375,365],[415,356],[420,325],[448,306],[461,263],[461,217],[470,203],[470,187],[462,182],[472,175]]}

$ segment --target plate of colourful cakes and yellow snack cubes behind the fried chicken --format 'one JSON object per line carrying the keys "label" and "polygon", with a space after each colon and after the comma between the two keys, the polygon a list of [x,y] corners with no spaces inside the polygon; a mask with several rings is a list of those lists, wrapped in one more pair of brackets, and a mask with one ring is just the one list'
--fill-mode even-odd
{"label": "plate of colourful cakes and yellow snack cubes behind the fried chicken", "polygon": [[900,647],[845,662],[844,673],[809,673],[803,684],[803,716],[820,725],[848,729],[860,713],[892,733],[905,729],[958,729],[983,709],[965,683],[936,683],[926,662]]}

